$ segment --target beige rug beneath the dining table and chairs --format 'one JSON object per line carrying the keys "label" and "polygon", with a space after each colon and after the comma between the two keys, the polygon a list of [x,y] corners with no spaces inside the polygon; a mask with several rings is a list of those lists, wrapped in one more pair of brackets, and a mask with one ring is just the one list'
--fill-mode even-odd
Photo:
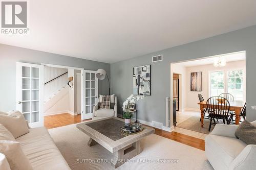
{"label": "beige rug beneath the dining table and chairs", "polygon": [[[210,125],[210,120],[209,119],[204,119],[204,127],[201,127],[201,122],[199,122],[200,116],[191,116],[188,119],[184,120],[183,122],[177,124],[176,126],[179,128],[184,128],[188,129],[191,131],[196,131],[204,134],[209,134],[213,129],[214,125],[211,125],[210,132],[208,131],[209,125]],[[212,121],[213,122],[213,121]],[[218,122],[216,122],[218,123]],[[222,120],[219,120],[219,123],[223,124]]]}

